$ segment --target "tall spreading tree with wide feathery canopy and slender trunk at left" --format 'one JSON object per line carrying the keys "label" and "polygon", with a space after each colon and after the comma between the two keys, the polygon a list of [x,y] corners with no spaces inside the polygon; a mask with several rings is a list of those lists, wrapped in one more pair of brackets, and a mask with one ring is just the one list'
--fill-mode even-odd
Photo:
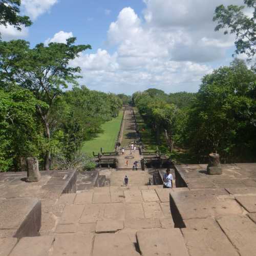
{"label": "tall spreading tree with wide feathery canopy and slender trunk at left", "polygon": [[[91,49],[90,45],[74,45],[76,38],[67,39],[66,44],[50,43],[29,48],[29,42],[13,40],[0,42],[0,83],[10,84],[15,81],[20,87],[33,92],[35,97],[49,105],[48,109],[37,106],[45,137],[50,141],[53,120],[50,118],[52,106],[62,89],[68,84],[77,85],[76,75],[79,67],[69,66],[69,62],[79,53]],[[50,168],[50,148],[46,150],[45,169]]]}

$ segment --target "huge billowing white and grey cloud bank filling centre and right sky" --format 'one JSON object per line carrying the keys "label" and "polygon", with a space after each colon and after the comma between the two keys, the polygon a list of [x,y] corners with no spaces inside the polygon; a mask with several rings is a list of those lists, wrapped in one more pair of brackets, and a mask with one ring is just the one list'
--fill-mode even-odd
{"label": "huge billowing white and grey cloud bank filling centre and right sky", "polygon": [[81,54],[72,65],[82,68],[81,83],[91,89],[133,93],[151,87],[166,92],[196,92],[212,66],[227,63],[233,37],[215,32],[212,22],[219,4],[242,0],[144,0],[144,18],[123,8],[110,24],[108,45]]}

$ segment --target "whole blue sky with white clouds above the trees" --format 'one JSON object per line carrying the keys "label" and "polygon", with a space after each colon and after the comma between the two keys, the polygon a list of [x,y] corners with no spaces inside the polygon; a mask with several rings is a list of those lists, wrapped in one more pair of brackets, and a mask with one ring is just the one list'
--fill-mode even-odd
{"label": "whole blue sky with white clouds above the trees", "polygon": [[[70,62],[91,90],[133,94],[148,88],[197,92],[201,79],[229,65],[234,36],[215,32],[216,6],[242,0],[22,0],[33,25],[0,27],[3,40],[90,44]],[[243,56],[241,56],[243,57]]]}

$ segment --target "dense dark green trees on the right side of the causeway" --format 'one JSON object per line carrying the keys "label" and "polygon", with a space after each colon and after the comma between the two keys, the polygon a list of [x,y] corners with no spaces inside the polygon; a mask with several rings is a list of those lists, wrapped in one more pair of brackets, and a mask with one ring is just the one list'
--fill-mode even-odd
{"label": "dense dark green trees on the right side of the causeway", "polygon": [[223,162],[256,160],[256,73],[242,60],[205,75],[198,93],[148,89],[134,93],[133,102],[169,151],[182,147],[198,160],[211,152]]}

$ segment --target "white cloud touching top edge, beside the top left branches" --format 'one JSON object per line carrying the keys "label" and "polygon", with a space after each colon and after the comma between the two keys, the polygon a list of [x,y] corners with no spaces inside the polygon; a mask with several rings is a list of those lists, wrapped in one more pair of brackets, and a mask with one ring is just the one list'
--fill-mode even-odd
{"label": "white cloud touching top edge, beside the top left branches", "polygon": [[22,9],[35,20],[39,15],[49,12],[56,3],[57,0],[22,0]]}

